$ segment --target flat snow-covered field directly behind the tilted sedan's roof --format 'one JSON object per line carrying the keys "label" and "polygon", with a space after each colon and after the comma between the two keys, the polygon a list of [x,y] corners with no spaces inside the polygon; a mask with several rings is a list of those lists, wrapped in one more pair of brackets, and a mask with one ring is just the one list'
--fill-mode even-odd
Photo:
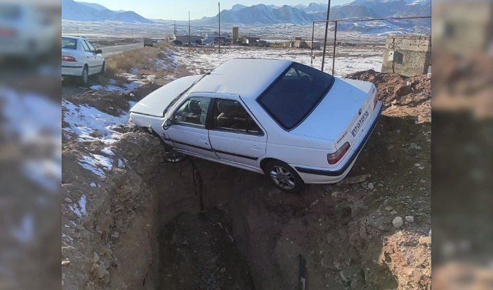
{"label": "flat snow-covered field directly behind the tilted sedan's roof", "polygon": [[[313,67],[320,69],[322,64],[322,52],[314,51]],[[278,49],[263,47],[221,47],[221,53],[215,47],[177,47],[175,58],[185,65],[193,74],[202,74],[212,71],[218,65],[233,58],[273,58],[292,60],[310,65],[309,49]],[[344,76],[357,71],[373,69],[381,70],[383,51],[374,47],[338,47],[336,52],[336,76]],[[331,51],[325,56],[325,71],[331,72]]]}

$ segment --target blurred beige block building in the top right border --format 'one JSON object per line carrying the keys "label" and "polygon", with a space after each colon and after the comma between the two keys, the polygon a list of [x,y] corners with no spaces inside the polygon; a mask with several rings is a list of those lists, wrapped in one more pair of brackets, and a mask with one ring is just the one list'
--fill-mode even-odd
{"label": "blurred beige block building in the top right border", "polygon": [[433,45],[455,53],[487,51],[493,44],[492,1],[444,1],[433,5]]}

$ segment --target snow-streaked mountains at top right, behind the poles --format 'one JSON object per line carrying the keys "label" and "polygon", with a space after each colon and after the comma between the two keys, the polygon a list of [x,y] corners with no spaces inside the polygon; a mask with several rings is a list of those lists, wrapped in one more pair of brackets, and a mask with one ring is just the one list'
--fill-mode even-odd
{"label": "snow-streaked mountains at top right, behind the poles", "polygon": [[[429,16],[431,0],[355,0],[351,3],[331,7],[330,19],[372,19],[398,16]],[[234,5],[231,10],[220,12],[221,22],[231,25],[272,25],[290,23],[311,24],[314,20],[324,20],[327,16],[326,3],[309,5]],[[216,25],[217,15],[203,17],[194,21],[195,25]],[[431,21],[375,21],[360,23],[341,23],[342,30],[365,33],[385,32],[429,32]]]}

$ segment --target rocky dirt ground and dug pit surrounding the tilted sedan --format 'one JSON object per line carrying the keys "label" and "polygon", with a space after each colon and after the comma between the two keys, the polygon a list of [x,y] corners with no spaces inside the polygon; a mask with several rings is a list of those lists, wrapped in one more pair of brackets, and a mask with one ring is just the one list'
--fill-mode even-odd
{"label": "rocky dirt ground and dug pit surrounding the tilted sedan", "polygon": [[165,163],[155,136],[118,123],[155,81],[66,95],[64,288],[295,289],[301,255],[307,289],[429,289],[431,80],[351,77],[379,86],[383,117],[348,178],[300,195],[205,160]]}

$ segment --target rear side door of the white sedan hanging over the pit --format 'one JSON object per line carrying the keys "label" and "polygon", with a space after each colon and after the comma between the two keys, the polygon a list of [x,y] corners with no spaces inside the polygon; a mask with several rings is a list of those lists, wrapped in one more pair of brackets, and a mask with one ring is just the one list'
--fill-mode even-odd
{"label": "rear side door of the white sedan hanging over the pit", "polygon": [[218,158],[258,169],[267,135],[238,96],[218,95],[211,108],[209,140]]}

